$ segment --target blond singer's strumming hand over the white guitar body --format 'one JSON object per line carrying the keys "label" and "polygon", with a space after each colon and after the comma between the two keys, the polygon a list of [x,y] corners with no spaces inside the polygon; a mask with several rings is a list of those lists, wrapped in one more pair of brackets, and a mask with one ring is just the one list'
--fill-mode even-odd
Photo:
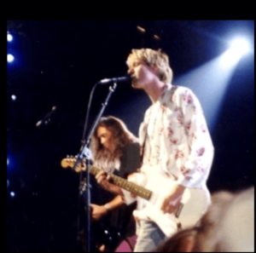
{"label": "blond singer's strumming hand over the white guitar body", "polygon": [[182,185],[175,185],[172,189],[172,193],[168,195],[162,204],[161,210],[163,210],[164,213],[172,214],[177,209],[178,204],[180,204],[185,189],[186,187]]}

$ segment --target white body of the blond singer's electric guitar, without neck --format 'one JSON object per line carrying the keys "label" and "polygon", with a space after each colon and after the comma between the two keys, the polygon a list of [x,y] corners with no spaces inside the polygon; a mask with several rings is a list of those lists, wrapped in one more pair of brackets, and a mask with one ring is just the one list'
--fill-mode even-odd
{"label": "white body of the blond singer's electric guitar, without neck", "polygon": [[147,177],[144,180],[146,183],[143,187],[152,191],[152,195],[149,200],[137,197],[137,201],[143,201],[143,203],[138,204],[142,206],[142,209],[135,210],[134,216],[141,219],[148,217],[162,229],[167,237],[172,236],[173,231],[177,230],[177,222],[181,223],[182,228],[195,226],[211,204],[207,187],[186,188],[181,200],[182,209],[177,217],[175,214],[164,213],[160,210],[165,198],[172,193],[172,188],[177,182],[154,168],[147,167],[143,170],[147,170]]}

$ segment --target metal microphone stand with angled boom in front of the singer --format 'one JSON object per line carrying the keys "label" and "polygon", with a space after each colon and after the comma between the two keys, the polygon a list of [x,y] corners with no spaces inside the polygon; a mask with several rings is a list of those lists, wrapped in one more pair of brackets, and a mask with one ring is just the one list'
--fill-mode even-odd
{"label": "metal microphone stand with angled boom in front of the singer", "polygon": [[[98,84],[98,83],[96,83],[96,84]],[[97,126],[100,118],[102,117],[102,114],[103,114],[106,106],[108,105],[108,101],[110,99],[110,96],[113,94],[113,91],[116,89],[116,86],[117,86],[116,83],[113,83],[113,87],[109,86],[108,96],[107,96],[106,100],[104,101],[104,103],[102,103],[102,109],[100,110],[100,112],[96,116],[96,120],[95,120],[94,124],[92,125],[92,127],[90,129],[90,132],[89,132],[89,135],[86,138],[86,141],[84,141],[84,144],[82,144],[82,147],[80,148],[80,152],[77,156],[76,163],[74,164],[73,169],[72,169],[72,170],[76,170],[76,168],[81,163],[81,161],[84,158],[86,158],[86,193],[87,193],[87,201],[86,201],[86,210],[87,210],[86,251],[87,252],[90,252],[90,171],[89,171],[90,158],[91,158],[90,149],[89,149],[90,139],[91,139],[91,136],[93,135],[93,133],[96,129],[96,126]],[[88,116],[88,114],[87,114],[87,116]],[[85,121],[85,124],[86,124],[86,121]]]}

